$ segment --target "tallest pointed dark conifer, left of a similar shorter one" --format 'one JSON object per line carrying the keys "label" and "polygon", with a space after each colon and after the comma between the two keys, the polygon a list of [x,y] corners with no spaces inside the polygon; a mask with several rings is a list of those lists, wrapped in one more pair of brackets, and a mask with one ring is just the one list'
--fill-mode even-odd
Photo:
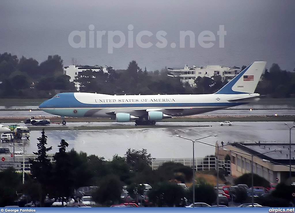
{"label": "tallest pointed dark conifer, left of a similar shorter one", "polygon": [[33,160],[30,161],[30,171],[35,181],[40,183],[40,206],[44,207],[45,194],[50,190],[50,179],[52,173],[52,164],[47,158],[47,152],[52,150],[52,146],[46,148],[47,136],[45,135],[44,129],[42,130],[41,137],[37,138],[37,152],[33,152],[37,155]]}

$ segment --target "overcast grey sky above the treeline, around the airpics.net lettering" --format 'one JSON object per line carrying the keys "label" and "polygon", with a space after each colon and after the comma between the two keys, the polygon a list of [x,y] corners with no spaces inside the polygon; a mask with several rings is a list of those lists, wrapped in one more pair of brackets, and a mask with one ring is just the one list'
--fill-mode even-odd
{"label": "overcast grey sky above the treeline, around the airpics.net lettering", "polygon": [[[108,65],[127,68],[136,60],[148,70],[192,65],[248,65],[266,60],[267,68],[278,63],[281,69],[295,68],[295,1],[0,1],[0,53],[34,58],[41,63],[58,54],[64,65],[75,58],[81,65]],[[89,47],[89,25],[94,25],[94,47]],[[133,48],[128,48],[128,25],[132,24]],[[217,31],[224,25],[224,48],[219,47]],[[73,48],[68,38],[73,31],[86,31],[86,47]],[[96,31],[105,30],[102,47],[96,47]],[[126,42],[109,53],[108,31],[121,31]],[[143,31],[153,35],[135,42]],[[168,45],[156,47],[158,31],[165,31]],[[180,48],[180,31],[192,31],[195,47]],[[211,31],[216,40],[211,48],[201,47],[198,36]],[[77,36],[74,37],[75,42]],[[119,42],[119,37],[114,37]],[[172,48],[171,43],[176,47]]]}

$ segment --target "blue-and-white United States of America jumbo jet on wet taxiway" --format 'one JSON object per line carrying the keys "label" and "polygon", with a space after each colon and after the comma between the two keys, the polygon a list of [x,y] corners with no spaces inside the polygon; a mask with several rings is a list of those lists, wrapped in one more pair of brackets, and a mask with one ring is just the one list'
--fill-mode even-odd
{"label": "blue-and-white United States of America jumbo jet on wet taxiway", "polygon": [[106,95],[60,93],[44,101],[44,112],[64,117],[109,117],[117,122],[155,124],[165,118],[195,115],[248,104],[258,100],[254,93],[266,62],[255,61],[214,94],[199,95]]}

